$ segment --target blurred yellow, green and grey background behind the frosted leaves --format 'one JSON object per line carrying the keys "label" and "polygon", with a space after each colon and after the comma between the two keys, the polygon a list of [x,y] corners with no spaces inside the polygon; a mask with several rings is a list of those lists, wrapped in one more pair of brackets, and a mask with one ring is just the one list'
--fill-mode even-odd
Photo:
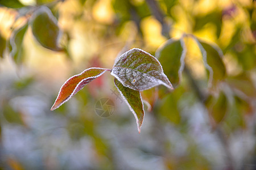
{"label": "blurred yellow, green and grey background behind the frosted leaves", "polygon": [[[0,5],[2,169],[256,169],[255,1],[1,0]],[[39,6],[57,19],[64,50],[44,48],[29,26],[17,59],[10,55],[10,37]],[[140,134],[109,73],[50,111],[70,76],[89,67],[111,69],[131,48],[155,55],[165,41],[183,35],[220,47],[225,78],[207,85],[199,47],[186,37],[188,70],[174,91],[159,87],[155,95],[144,94],[152,109],[144,104]],[[210,106],[200,92],[212,97]],[[115,103],[107,118],[95,112],[104,97]]]}

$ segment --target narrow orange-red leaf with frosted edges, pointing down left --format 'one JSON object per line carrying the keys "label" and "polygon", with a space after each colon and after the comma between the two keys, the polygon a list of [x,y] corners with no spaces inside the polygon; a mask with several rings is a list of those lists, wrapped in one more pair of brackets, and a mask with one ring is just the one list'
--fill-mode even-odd
{"label": "narrow orange-red leaf with frosted edges, pointing down left", "polygon": [[84,88],[86,84],[92,82],[92,80],[96,79],[98,76],[101,76],[106,72],[106,70],[107,69],[93,67],[69,78],[61,86],[59,95],[57,96],[55,103],[52,105],[51,111],[59,108],[60,105],[71,99],[71,97]]}

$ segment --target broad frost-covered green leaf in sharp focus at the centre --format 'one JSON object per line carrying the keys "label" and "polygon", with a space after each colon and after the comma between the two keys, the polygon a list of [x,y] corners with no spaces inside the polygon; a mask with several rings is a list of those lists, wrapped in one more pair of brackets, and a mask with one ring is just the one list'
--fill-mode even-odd
{"label": "broad frost-covered green leaf in sharp focus at the centre", "polygon": [[125,87],[143,91],[163,84],[172,89],[172,84],[163,73],[158,59],[141,49],[123,53],[115,62],[111,74]]}

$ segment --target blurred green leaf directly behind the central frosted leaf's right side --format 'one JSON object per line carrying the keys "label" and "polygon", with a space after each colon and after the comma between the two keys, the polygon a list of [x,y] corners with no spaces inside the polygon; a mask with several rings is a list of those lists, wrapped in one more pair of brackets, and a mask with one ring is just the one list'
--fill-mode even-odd
{"label": "blurred green leaf directly behind the central frosted leaf's right side", "polygon": [[155,56],[162,63],[164,72],[174,87],[181,81],[186,49],[182,40],[170,39],[156,50]]}

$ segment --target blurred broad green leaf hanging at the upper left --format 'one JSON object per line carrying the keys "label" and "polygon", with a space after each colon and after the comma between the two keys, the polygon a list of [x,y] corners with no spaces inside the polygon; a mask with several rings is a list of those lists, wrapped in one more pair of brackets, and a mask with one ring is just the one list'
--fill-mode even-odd
{"label": "blurred broad green leaf hanging at the upper left", "polygon": [[57,19],[46,6],[38,8],[30,20],[33,35],[44,48],[61,51],[59,41],[62,35]]}

